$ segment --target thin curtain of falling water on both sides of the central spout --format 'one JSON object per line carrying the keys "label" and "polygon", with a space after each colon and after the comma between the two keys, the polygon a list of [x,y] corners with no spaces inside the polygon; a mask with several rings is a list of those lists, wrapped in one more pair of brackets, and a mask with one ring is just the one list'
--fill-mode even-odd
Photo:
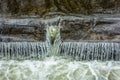
{"label": "thin curtain of falling water on both sides of the central spout", "polygon": [[[62,42],[57,55],[76,60],[120,60],[119,42]],[[46,42],[0,42],[0,59],[41,59],[51,55]]]}

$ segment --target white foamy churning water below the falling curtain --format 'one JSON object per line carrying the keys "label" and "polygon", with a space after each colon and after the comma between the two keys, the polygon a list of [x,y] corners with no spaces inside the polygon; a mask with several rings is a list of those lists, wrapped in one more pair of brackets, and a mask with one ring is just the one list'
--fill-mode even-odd
{"label": "white foamy churning water below the falling curtain", "polygon": [[48,57],[42,61],[0,61],[0,80],[120,80],[120,62],[73,61]]}

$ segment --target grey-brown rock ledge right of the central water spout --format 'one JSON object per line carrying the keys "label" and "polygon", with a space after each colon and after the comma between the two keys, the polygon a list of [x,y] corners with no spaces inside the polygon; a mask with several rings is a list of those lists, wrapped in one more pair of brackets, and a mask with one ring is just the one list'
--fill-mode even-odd
{"label": "grey-brown rock ledge right of the central water spout", "polygon": [[119,18],[84,18],[64,23],[63,40],[120,40]]}

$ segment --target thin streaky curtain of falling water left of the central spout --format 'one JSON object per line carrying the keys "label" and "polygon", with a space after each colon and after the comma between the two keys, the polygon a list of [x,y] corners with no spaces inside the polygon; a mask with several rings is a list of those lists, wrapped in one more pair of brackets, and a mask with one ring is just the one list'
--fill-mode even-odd
{"label": "thin streaky curtain of falling water left of the central spout", "polygon": [[45,42],[0,42],[0,59],[40,59],[46,53]]}

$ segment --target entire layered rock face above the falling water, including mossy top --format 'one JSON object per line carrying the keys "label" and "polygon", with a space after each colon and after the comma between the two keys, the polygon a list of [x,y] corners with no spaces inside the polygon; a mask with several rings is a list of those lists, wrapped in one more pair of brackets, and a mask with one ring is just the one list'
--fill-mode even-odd
{"label": "entire layered rock face above the falling water, including mossy top", "polygon": [[[61,18],[62,40],[120,40],[119,0],[0,0],[0,41],[45,41]],[[32,17],[31,17],[32,16]]]}

